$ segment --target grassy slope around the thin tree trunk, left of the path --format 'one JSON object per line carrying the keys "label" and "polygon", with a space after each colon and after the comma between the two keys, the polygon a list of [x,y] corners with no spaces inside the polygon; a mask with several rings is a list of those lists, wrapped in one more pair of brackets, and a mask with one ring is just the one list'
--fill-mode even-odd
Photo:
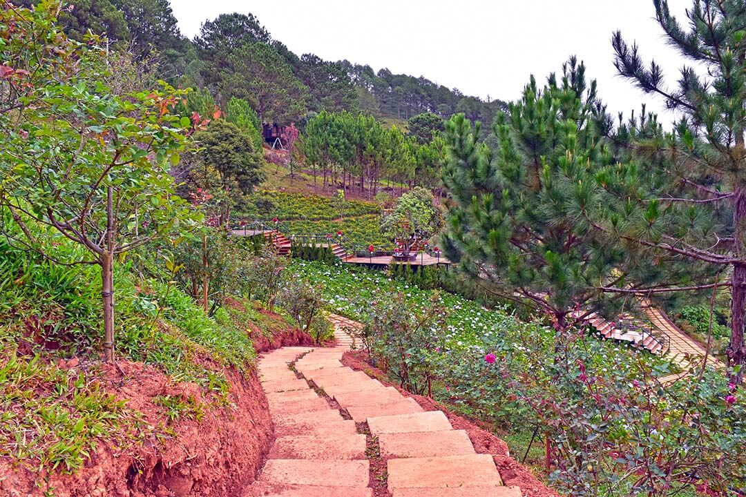
{"label": "grassy slope around the thin tree trunk, left of the path", "polygon": [[[46,248],[58,259],[83,256],[66,239],[49,239]],[[178,289],[136,273],[130,262],[115,265],[116,355],[150,364],[173,382],[198,384],[208,402],[154,402],[171,423],[200,420],[228,402],[221,366],[244,372],[255,364],[248,318],[225,309],[207,317]],[[0,241],[0,320],[0,457],[31,470],[75,472],[103,440],[125,450],[169,434],[100,383],[98,266],[55,265]],[[84,367],[57,366],[73,357]]]}

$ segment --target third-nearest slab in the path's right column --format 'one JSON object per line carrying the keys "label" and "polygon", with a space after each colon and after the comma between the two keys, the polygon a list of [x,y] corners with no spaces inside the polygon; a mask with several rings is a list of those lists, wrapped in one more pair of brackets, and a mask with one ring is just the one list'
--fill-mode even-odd
{"label": "third-nearest slab in the path's right column", "polygon": [[474,454],[474,446],[464,430],[382,433],[378,435],[378,443],[384,458]]}

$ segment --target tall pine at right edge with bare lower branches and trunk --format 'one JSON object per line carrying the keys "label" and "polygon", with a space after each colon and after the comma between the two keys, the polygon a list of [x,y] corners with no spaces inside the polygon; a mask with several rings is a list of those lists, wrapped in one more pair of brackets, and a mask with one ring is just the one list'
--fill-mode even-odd
{"label": "tall pine at right edge with bare lower branches and trunk", "polygon": [[[724,273],[719,284],[732,285],[733,297],[727,357],[730,366],[740,366],[746,359],[746,4],[695,0],[686,27],[671,15],[668,2],[653,5],[668,42],[692,65],[669,88],[660,66],[645,66],[637,45],[630,47],[617,32],[615,66],[683,117],[671,133],[654,121],[618,130],[614,138],[631,142],[633,156],[598,174],[596,202],[605,209],[595,224],[660,268],[688,262]],[[658,282],[646,282],[648,288],[668,290],[662,287],[671,278],[665,271],[658,276]],[[715,280],[688,283],[701,290]],[[733,378],[741,376],[738,371]]]}

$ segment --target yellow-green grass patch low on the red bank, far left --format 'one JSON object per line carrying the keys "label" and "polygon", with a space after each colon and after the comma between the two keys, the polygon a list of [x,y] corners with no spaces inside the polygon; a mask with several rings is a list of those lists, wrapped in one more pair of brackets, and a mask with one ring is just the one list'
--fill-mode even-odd
{"label": "yellow-green grass patch low on the red bank, far left", "polygon": [[142,414],[90,375],[61,370],[39,355],[5,355],[0,365],[0,457],[31,470],[74,472],[102,437],[115,446],[144,439]]}

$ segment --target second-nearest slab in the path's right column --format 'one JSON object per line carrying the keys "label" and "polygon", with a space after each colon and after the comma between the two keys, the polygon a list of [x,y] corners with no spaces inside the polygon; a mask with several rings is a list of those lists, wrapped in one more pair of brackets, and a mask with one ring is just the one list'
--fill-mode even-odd
{"label": "second-nearest slab in the path's right column", "polygon": [[401,488],[500,487],[503,484],[489,454],[389,459],[388,471],[389,492]]}

